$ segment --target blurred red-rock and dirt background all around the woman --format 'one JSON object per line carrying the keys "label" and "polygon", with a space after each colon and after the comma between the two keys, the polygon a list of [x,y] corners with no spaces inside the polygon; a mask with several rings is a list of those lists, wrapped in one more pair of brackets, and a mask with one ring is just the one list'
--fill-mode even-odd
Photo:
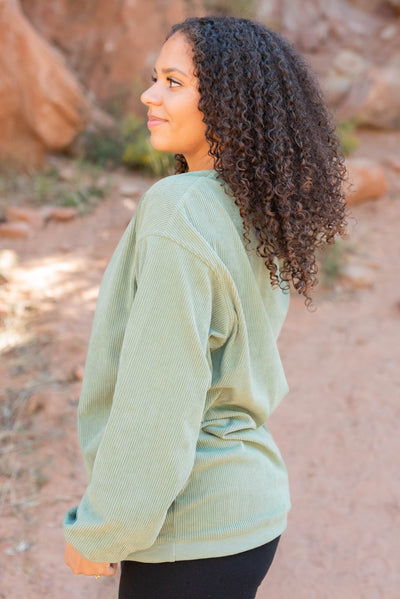
{"label": "blurred red-rock and dirt background all around the woman", "polygon": [[76,409],[102,273],[173,172],[139,96],[169,27],[205,14],[305,56],[349,173],[348,237],[280,338],[291,390],[269,427],[293,507],[257,597],[399,597],[400,1],[0,0],[0,598],[116,597],[63,563]]}

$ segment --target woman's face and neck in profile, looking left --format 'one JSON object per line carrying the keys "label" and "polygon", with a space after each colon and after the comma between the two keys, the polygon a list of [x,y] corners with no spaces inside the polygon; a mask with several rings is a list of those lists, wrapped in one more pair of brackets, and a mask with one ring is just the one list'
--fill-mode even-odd
{"label": "woman's face and neck in profile, looking left", "polygon": [[148,107],[152,146],[161,152],[183,154],[191,171],[213,167],[193,71],[190,44],[183,34],[175,33],[157,58],[153,85],[140,98]]}

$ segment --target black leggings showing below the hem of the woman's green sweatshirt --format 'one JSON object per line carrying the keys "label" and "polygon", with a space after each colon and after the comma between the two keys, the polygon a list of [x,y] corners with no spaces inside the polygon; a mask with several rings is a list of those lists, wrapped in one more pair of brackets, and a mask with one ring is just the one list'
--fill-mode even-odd
{"label": "black leggings showing below the hem of the woman's green sweatshirt", "polygon": [[156,564],[124,561],[118,599],[254,599],[278,542],[279,537],[224,557]]}

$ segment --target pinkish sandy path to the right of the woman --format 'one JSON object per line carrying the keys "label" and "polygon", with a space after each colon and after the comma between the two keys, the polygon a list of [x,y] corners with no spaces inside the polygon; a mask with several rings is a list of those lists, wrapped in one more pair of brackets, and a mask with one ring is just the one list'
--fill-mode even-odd
{"label": "pinkish sandy path to the right of the woman", "polygon": [[293,302],[281,339],[291,392],[271,428],[293,508],[260,599],[400,596],[400,203],[355,214],[374,288],[312,315]]}

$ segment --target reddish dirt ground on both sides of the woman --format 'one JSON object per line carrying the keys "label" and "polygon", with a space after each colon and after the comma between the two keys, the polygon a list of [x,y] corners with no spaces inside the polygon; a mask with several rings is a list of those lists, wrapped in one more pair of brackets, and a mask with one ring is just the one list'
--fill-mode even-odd
{"label": "reddish dirt ground on both sides of the woman", "polygon": [[[365,135],[357,153],[384,160],[398,147]],[[400,174],[387,175],[385,197],[352,210],[345,246],[370,279],[320,288],[313,313],[293,297],[281,335],[290,392],[270,429],[293,507],[258,599],[400,596]],[[1,240],[18,258],[0,287],[1,599],[116,597],[117,578],[64,565],[61,524],[85,486],[76,409],[99,281],[150,183],[115,175],[92,214]]]}

